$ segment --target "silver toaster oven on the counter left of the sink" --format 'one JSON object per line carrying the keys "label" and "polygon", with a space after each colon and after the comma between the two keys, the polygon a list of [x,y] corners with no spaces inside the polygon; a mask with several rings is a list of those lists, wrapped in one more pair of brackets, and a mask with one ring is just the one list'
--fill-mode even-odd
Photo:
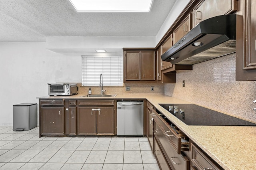
{"label": "silver toaster oven on the counter left of the sink", "polygon": [[76,95],[78,87],[76,83],[47,83],[49,96],[71,96]]}

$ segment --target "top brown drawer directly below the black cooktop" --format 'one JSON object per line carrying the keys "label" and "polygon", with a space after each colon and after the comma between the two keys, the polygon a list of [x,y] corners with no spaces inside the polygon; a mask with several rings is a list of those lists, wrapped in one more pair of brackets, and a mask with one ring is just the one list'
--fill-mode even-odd
{"label": "top brown drawer directly below the black cooktop", "polygon": [[162,118],[160,118],[157,113],[156,116],[154,116],[153,118],[158,123],[158,125],[162,127],[164,135],[166,136],[166,138],[168,138],[178,154],[180,154],[181,151],[188,150],[188,147],[183,147],[182,138],[176,133],[174,128],[165,125],[163,120],[161,120]]}

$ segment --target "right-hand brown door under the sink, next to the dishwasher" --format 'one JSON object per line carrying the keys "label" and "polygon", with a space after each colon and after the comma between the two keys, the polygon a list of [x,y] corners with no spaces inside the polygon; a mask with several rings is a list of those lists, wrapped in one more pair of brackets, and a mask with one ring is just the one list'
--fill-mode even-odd
{"label": "right-hand brown door under the sink, next to the dishwasher", "polygon": [[100,107],[97,114],[97,134],[114,134],[114,107]]}

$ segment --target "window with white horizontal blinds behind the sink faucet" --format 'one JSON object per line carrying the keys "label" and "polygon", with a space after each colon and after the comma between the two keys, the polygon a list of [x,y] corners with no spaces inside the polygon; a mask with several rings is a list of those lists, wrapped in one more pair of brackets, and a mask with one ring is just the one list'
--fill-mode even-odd
{"label": "window with white horizontal blinds behind the sink faucet", "polygon": [[100,74],[104,86],[122,86],[123,56],[82,55],[82,85],[99,86]]}

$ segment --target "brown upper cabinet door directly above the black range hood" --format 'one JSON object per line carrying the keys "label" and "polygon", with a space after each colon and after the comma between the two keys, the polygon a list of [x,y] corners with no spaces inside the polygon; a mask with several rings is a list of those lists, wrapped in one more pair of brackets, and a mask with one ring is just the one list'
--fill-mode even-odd
{"label": "brown upper cabinet door directly above the black range hood", "polygon": [[230,14],[237,9],[237,0],[204,0],[194,8],[194,26],[218,15]]}

